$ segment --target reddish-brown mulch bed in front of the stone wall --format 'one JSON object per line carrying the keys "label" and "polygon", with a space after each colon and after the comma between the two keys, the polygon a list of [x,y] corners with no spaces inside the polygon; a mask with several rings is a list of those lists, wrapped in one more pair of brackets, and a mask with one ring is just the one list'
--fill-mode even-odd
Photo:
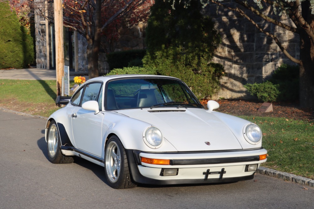
{"label": "reddish-brown mulch bed in front of the stone wall", "polygon": [[230,115],[254,115],[267,117],[282,117],[286,119],[296,119],[313,121],[314,110],[302,109],[298,104],[291,103],[273,103],[272,112],[257,111],[263,103],[248,100],[222,99],[217,100],[220,107],[217,111],[228,113]]}

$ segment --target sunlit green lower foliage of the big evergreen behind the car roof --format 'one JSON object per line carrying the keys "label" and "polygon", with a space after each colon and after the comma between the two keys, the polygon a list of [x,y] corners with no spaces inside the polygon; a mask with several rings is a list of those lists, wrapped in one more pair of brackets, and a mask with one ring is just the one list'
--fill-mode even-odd
{"label": "sunlit green lower foliage of the big evergreen behind the car roof", "polygon": [[[153,67],[158,75],[172,76],[184,81],[198,99],[203,99],[217,93],[220,88],[219,79],[222,77],[224,68],[217,63],[208,63],[206,59],[200,59],[203,65],[199,72],[193,71],[193,66],[187,65],[186,61],[194,59],[193,54],[181,54],[182,49],[168,48],[165,51],[157,51],[155,59],[149,56],[143,58],[144,67]],[[166,56],[165,56],[166,54]]]}

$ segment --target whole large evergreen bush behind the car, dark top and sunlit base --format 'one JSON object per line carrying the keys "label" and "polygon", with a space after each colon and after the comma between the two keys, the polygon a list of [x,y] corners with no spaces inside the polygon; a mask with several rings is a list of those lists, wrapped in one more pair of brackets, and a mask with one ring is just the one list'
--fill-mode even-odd
{"label": "whole large evergreen bush behind the car, dark top and sunlit base", "polygon": [[143,66],[159,75],[182,79],[199,98],[215,94],[224,70],[211,63],[220,43],[213,21],[203,16],[198,0],[156,0],[146,28],[147,54]]}

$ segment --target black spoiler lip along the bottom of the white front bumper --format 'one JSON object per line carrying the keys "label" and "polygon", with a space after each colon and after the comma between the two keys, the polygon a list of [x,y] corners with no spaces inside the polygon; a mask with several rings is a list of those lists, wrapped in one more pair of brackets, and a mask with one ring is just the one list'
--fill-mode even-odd
{"label": "black spoiler lip along the bottom of the white front bumper", "polygon": [[254,178],[254,173],[248,176],[234,177],[234,178],[223,178],[217,179],[180,179],[180,180],[156,180],[143,176],[138,170],[138,164],[135,160],[136,156],[134,150],[126,149],[127,160],[131,173],[131,178],[136,184],[152,184],[152,185],[174,185],[174,184],[209,184],[209,183],[225,183],[225,182],[236,182],[251,180]]}

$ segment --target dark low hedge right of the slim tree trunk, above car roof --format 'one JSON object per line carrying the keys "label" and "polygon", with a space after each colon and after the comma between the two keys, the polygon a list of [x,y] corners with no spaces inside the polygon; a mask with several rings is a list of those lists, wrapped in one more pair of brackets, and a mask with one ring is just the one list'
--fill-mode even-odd
{"label": "dark low hedge right of the slim tree trunk, above car roof", "polygon": [[[145,55],[145,50],[128,50],[128,51],[116,51],[106,55],[107,62],[110,69],[128,67],[129,62],[142,59]],[[132,67],[132,66],[129,66]]]}

